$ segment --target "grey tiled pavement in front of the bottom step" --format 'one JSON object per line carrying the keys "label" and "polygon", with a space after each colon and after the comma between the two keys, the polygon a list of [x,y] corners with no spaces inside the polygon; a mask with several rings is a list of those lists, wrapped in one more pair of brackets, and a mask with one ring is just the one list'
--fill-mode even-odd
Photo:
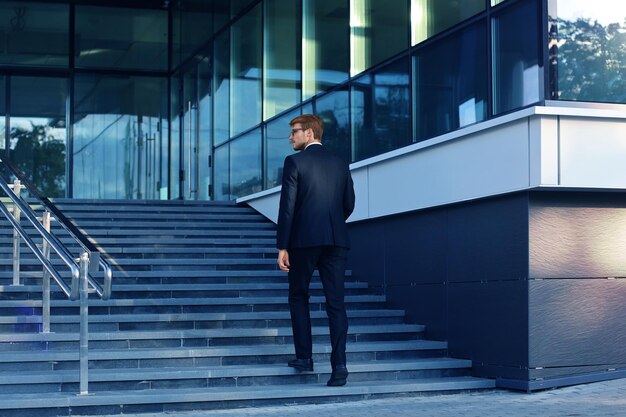
{"label": "grey tiled pavement in front of the bottom step", "polygon": [[[340,388],[339,388],[340,389]],[[532,394],[496,390],[336,404],[284,405],[125,417],[626,417],[626,378]]]}

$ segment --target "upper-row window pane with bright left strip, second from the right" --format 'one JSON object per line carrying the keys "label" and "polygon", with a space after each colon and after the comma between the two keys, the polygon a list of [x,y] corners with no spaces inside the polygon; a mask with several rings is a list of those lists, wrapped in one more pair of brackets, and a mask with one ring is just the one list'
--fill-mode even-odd
{"label": "upper-row window pane with bright left strip, second from the right", "polygon": [[355,75],[409,46],[406,2],[351,0],[351,70]]}

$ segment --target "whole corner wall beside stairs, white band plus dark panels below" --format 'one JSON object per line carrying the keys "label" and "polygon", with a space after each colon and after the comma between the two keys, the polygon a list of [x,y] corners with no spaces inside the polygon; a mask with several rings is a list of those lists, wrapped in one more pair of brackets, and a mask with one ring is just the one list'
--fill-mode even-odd
{"label": "whole corner wall beside stairs, white band plus dark panels below", "polygon": [[626,372],[624,137],[623,106],[546,106],[353,164],[354,277],[502,386]]}

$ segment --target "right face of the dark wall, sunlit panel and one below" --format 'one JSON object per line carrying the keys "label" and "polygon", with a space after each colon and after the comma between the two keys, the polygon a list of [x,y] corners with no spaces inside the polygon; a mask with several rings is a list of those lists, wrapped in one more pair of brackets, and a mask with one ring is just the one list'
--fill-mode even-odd
{"label": "right face of the dark wall, sunlit panel and one below", "polygon": [[553,378],[626,368],[626,193],[534,193],[529,365]]}

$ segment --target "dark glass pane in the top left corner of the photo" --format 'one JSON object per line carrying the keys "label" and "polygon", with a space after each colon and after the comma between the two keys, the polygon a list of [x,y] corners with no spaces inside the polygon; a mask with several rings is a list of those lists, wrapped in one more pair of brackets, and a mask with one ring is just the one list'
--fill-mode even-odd
{"label": "dark glass pane in the top left corner of the photo", "polygon": [[0,64],[67,67],[69,7],[28,1],[0,3]]}

